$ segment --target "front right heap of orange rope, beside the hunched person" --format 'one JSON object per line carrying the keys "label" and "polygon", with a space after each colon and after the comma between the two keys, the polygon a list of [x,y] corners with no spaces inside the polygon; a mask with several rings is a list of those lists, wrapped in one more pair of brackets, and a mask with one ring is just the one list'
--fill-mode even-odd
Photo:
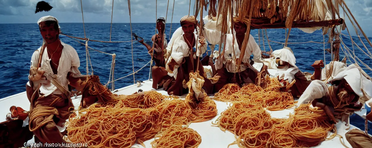
{"label": "front right heap of orange rope, beside the hunched person", "polygon": [[288,119],[278,119],[271,118],[262,106],[234,102],[214,124],[237,135],[232,144],[239,147],[312,147],[324,141],[334,127],[322,109],[309,105],[296,108]]}

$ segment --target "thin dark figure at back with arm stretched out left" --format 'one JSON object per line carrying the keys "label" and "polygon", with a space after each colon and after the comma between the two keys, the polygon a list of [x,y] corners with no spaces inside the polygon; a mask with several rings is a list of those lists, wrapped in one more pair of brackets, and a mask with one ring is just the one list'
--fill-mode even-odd
{"label": "thin dark figure at back with arm stretched out left", "polygon": [[[156,28],[158,30],[158,34],[155,34],[151,40],[153,41],[153,47],[140,40],[141,44],[146,46],[148,53],[153,57],[155,61],[155,66],[152,67],[152,76],[153,76],[153,88],[159,89],[161,87],[167,87],[166,81],[169,81],[171,77],[167,74],[167,70],[165,69],[165,60],[166,56],[166,48],[167,48],[167,40],[165,31],[165,19],[160,17],[156,21]],[[165,84],[165,85],[164,85]]]}

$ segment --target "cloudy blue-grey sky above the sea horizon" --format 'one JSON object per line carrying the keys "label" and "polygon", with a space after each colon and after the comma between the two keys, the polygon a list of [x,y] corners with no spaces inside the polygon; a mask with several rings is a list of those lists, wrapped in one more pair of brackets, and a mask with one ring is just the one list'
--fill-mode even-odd
{"label": "cloudy blue-grey sky above the sea horizon", "polygon": [[[0,24],[36,23],[40,17],[51,15],[60,23],[81,23],[80,0],[44,0],[53,9],[35,14],[35,6],[40,0],[0,0]],[[350,11],[363,31],[372,36],[372,0],[345,0]],[[113,0],[113,23],[129,23],[127,0]],[[156,5],[157,3],[157,5]],[[173,23],[179,23],[181,17],[189,14],[189,0],[174,0]],[[157,17],[166,18],[168,0],[130,0],[132,23],[154,23]],[[191,0],[191,12],[195,0]],[[112,0],[82,0],[84,23],[110,23]],[[157,11],[156,11],[157,7]],[[167,23],[170,23],[173,0],[169,0]],[[340,10],[341,16],[343,16]],[[203,16],[206,16],[204,12]],[[351,24],[345,16],[346,25]],[[352,31],[355,32],[355,31]],[[369,35],[371,34],[371,35]]]}

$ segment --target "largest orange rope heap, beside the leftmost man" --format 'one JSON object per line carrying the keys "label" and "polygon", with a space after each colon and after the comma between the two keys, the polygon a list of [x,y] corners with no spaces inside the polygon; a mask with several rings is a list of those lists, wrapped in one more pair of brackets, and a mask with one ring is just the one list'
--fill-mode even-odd
{"label": "largest orange rope heap, beside the leftmost man", "polygon": [[178,141],[187,141],[183,143],[187,147],[197,147],[200,135],[185,127],[217,115],[215,102],[206,94],[203,99],[193,109],[187,100],[156,91],[113,94],[109,102],[79,108],[70,115],[66,123],[68,140],[94,148],[129,148],[136,142],[144,146],[144,141],[156,137],[152,144],[157,147],[178,147]]}

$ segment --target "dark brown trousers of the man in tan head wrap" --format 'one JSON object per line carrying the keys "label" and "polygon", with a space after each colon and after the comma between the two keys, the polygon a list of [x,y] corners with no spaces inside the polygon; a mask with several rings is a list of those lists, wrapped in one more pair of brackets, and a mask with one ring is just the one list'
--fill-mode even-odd
{"label": "dark brown trousers of the man in tan head wrap", "polygon": [[[182,81],[185,80],[187,83],[190,78],[189,73],[191,71],[196,70],[197,66],[199,67],[198,68],[199,74],[204,78],[204,81],[205,81],[203,84],[203,89],[211,90],[210,87],[212,86],[212,84],[211,84],[211,81],[209,81],[208,78],[206,78],[204,74],[204,68],[203,68],[202,62],[199,61],[199,65],[198,65],[198,59],[191,60],[190,57],[183,57],[183,58],[185,59],[185,63],[181,64],[180,67],[178,68],[177,79],[170,84],[167,90],[166,89],[164,90],[167,91],[169,95],[173,94],[173,95],[180,96],[180,95],[189,93],[188,89],[183,88]],[[193,61],[193,63],[191,61]]]}

